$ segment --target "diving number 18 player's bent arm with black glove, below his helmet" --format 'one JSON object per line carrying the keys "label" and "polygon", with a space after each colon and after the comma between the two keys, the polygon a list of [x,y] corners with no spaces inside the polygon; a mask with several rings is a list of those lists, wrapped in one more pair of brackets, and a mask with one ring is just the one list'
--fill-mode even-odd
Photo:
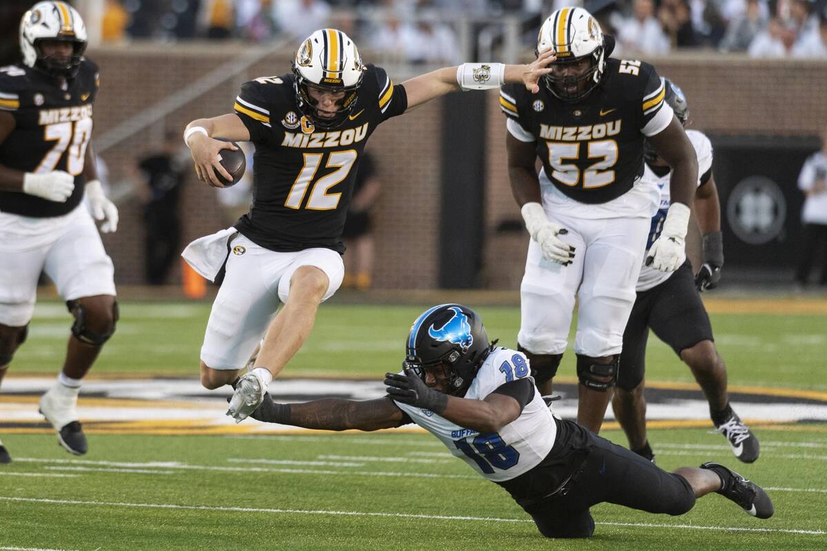
{"label": "diving number 18 player's bent arm with black glove, below his helmet", "polygon": [[491,393],[485,400],[448,396],[429,388],[410,369],[403,373],[385,373],[388,397],[411,406],[433,411],[461,427],[480,433],[497,432],[523,411],[519,401],[504,394]]}

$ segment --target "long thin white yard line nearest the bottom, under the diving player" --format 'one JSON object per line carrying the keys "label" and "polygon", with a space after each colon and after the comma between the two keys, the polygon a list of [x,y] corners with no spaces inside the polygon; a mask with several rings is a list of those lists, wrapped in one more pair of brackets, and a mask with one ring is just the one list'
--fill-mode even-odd
{"label": "long thin white yard line nearest the bottom, under the diving player", "polygon": [[[498,517],[484,517],[484,516],[466,516],[466,515],[420,515],[417,513],[388,513],[388,512],[374,512],[374,511],[323,511],[323,510],[307,510],[307,509],[270,509],[266,507],[232,507],[232,506],[205,506],[205,505],[176,505],[171,503],[129,503],[123,501],[77,501],[77,500],[59,500],[47,499],[38,497],[13,497],[0,496],[2,501],[17,501],[26,503],[44,503],[50,505],[74,505],[74,506],[105,506],[105,507],[136,507],[145,509],[180,509],[185,511],[227,511],[239,513],[271,513],[281,515],[333,515],[333,516],[378,516],[404,519],[423,519],[423,520],[479,520],[482,522],[520,522],[533,523],[529,519],[508,519]],[[654,523],[638,523],[638,522],[595,522],[597,525],[607,526],[630,526],[634,528],[681,528],[687,530],[722,530],[722,531],[739,531],[739,532],[760,532],[760,533],[783,533],[783,534],[804,534],[804,535],[824,535],[827,534],[824,530],[794,530],[782,528],[740,528],[737,526],[699,526],[699,525],[670,525],[670,524],[654,524]]]}

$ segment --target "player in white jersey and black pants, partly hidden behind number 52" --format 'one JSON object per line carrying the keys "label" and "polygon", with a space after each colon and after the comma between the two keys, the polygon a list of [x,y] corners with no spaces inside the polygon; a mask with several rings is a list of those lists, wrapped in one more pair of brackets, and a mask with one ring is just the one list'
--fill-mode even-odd
{"label": "player in white jersey and black pants, partly hidden behind number 52", "polygon": [[[675,116],[686,125],[689,106],[680,88],[664,78],[666,102]],[[712,176],[712,144],[703,132],[686,131],[698,157],[698,188],[695,215],[703,235],[703,265],[693,279],[688,260],[673,273],[663,273],[643,266],[638,278],[638,297],[632,307],[623,338],[617,388],[612,397],[614,415],[629,438],[629,448],[653,459],[646,437],[646,399],[643,397],[646,342],[649,329],[669,344],[689,366],[710,404],[710,417],[716,431],[729,441],[733,453],[744,463],[758,458],[758,439],[729,405],[724,359],[715,349],[710,317],[706,314],[699,291],[718,285],[724,265],[724,245],[720,231],[720,205],[715,178]],[[669,180],[672,170],[657,153],[647,149],[643,178],[661,188],[661,207],[652,219],[647,249],[661,234],[670,204]]]}

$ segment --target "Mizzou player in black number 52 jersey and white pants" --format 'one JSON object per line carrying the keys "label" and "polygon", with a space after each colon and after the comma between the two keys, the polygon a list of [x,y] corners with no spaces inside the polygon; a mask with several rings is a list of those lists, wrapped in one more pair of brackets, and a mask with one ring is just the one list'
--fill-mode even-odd
{"label": "Mizzou player in black number 52 jersey and white pants", "polygon": [[[538,93],[504,86],[509,179],[531,240],[520,287],[519,350],[549,393],[579,302],[577,420],[597,433],[617,381],[657,186],[641,179],[643,140],[672,167],[672,205],[648,264],[682,262],[697,161],[652,65],[609,58],[614,39],[581,7],[543,23],[556,52]],[[543,164],[539,175],[535,164]]]}

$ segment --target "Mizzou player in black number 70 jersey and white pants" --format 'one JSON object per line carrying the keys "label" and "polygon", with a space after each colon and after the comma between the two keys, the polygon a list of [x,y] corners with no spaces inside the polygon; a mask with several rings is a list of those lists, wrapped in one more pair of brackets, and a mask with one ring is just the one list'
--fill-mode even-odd
{"label": "Mizzou player in black number 70 jersey and white pants", "polygon": [[[23,63],[0,69],[0,381],[26,340],[45,272],[74,324],[63,370],[40,401],[60,444],[85,454],[76,406],[84,376],[117,321],[112,260],[98,229],[117,208],[98,181],[92,113],[98,67],[84,57],[86,28],[65,2],[38,2],[20,24]],[[0,462],[9,461],[0,445]]]}

